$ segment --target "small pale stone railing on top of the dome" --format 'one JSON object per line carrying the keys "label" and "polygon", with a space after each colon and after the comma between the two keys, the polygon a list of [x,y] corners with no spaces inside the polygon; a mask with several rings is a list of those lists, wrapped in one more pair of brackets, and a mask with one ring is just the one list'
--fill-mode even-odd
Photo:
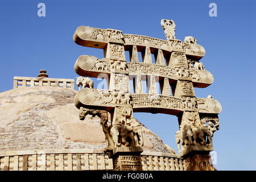
{"label": "small pale stone railing on top of the dome", "polygon": [[74,89],[74,79],[15,76],[13,78],[13,88],[19,88],[20,86],[58,86]]}

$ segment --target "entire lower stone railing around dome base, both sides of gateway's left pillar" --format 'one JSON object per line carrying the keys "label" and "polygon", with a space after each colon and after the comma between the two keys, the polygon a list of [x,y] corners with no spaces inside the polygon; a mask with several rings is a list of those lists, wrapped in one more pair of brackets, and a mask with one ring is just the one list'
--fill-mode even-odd
{"label": "entire lower stone railing around dome base, both sides of gateway's left pillar", "polygon": [[[143,171],[183,171],[175,154],[142,152]],[[51,150],[0,152],[0,171],[113,170],[113,159],[100,150]]]}

